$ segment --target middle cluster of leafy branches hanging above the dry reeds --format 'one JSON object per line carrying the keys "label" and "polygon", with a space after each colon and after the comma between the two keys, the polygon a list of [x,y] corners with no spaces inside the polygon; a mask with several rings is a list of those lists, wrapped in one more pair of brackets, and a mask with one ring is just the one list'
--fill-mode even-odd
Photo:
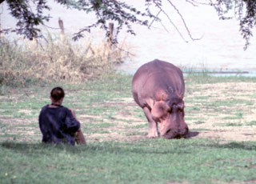
{"label": "middle cluster of leafy branches hanging above the dry reeds", "polygon": [[[61,1],[59,1],[61,2]],[[66,1],[65,1],[66,3]],[[107,23],[117,22],[117,34],[120,30],[122,30],[123,26],[126,26],[127,32],[130,34],[135,34],[134,30],[131,27],[132,23],[137,23],[142,26],[148,26],[147,20],[143,20],[142,17],[146,18],[156,18],[149,11],[141,12],[136,10],[133,6],[128,5],[126,2],[118,2],[115,0],[110,1],[85,1],[85,2],[77,2],[78,6],[74,6],[74,8],[78,10],[85,10],[86,13],[94,12],[96,15],[97,21],[90,26],[84,27],[78,33],[74,35],[74,40],[82,37],[82,32],[89,31],[92,27],[101,26],[102,29],[106,30],[106,35],[109,35],[109,26]],[[117,42],[115,38],[113,42]]]}

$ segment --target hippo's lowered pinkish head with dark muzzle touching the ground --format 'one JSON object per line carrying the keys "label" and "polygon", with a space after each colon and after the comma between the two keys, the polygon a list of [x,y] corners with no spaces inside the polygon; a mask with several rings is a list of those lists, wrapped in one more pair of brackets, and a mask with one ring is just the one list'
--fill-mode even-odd
{"label": "hippo's lowered pinkish head with dark muzzle touching the ground", "polygon": [[188,134],[182,98],[155,102],[151,114],[156,122],[160,122],[160,134],[163,138],[183,138]]}

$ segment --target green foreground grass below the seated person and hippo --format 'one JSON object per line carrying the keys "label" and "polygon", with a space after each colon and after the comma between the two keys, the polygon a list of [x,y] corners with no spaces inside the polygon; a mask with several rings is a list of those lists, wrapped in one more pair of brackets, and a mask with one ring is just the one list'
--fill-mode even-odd
{"label": "green foreground grass below the seated person and hippo", "polygon": [[256,180],[255,142],[146,139],[83,146],[3,142],[2,183],[222,183]]}

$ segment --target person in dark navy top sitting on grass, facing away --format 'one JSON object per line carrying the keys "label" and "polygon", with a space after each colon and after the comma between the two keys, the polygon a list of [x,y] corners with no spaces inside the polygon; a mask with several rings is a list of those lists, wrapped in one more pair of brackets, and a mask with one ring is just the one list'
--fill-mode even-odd
{"label": "person in dark navy top sitting on grass, facing away", "polygon": [[51,104],[42,107],[39,114],[39,127],[42,132],[42,142],[68,143],[86,145],[80,122],[75,117],[74,110],[62,106],[65,96],[61,87],[55,87],[50,92]]}

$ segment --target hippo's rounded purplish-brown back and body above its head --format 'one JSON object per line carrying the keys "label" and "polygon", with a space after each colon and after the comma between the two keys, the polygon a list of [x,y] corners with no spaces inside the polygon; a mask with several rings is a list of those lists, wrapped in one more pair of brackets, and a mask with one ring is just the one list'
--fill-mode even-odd
{"label": "hippo's rounded purplish-brown back and body above its head", "polygon": [[182,70],[170,62],[155,59],[138,68],[132,81],[132,93],[135,102],[143,106],[144,98],[155,100],[160,90],[169,94],[177,91],[183,97],[185,85]]}

